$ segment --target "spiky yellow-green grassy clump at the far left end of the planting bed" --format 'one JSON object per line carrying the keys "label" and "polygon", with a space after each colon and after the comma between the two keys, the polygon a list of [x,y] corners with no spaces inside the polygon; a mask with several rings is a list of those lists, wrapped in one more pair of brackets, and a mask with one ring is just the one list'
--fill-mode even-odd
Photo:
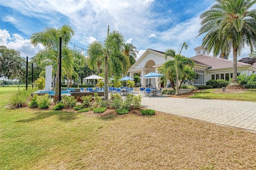
{"label": "spiky yellow-green grassy clump at the far left end of the planting bed", "polygon": [[30,97],[32,90],[26,91],[25,88],[22,88],[18,91],[14,91],[8,96],[10,104],[14,107],[23,107],[28,104],[28,98]]}

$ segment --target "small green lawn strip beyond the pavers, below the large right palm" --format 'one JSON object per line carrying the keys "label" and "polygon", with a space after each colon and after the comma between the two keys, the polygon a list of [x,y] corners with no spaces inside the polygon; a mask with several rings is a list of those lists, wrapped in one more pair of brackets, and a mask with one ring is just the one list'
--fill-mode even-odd
{"label": "small green lawn strip beyond the pavers, below the large right palm", "polygon": [[238,101],[250,101],[256,102],[256,89],[249,89],[243,93],[215,93],[216,89],[207,89],[202,92],[196,93],[190,98],[201,98],[201,99],[220,99],[220,100],[238,100]]}

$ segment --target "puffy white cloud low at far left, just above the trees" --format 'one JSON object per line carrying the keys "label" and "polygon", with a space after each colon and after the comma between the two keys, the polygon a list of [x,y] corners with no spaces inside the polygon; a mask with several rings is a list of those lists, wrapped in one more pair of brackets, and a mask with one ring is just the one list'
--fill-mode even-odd
{"label": "puffy white cloud low at far left, just above the trees", "polygon": [[42,45],[34,47],[28,39],[24,39],[19,34],[10,34],[5,29],[0,29],[0,45],[6,46],[8,49],[14,49],[20,52],[21,57],[33,57],[43,49]]}

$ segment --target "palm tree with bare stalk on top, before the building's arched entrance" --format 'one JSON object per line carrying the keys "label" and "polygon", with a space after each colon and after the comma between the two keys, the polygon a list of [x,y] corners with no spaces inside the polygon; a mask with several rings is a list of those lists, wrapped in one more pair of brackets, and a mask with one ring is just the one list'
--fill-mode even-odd
{"label": "palm tree with bare stalk on top, before the building's arched entrance", "polygon": [[[186,42],[183,43],[180,51],[178,54],[176,54],[176,51],[174,49],[166,49],[164,52],[164,58],[167,59],[168,56],[173,57],[174,61],[169,61],[168,66],[169,68],[166,68],[166,71],[168,72],[168,78],[170,78],[170,82],[172,86],[174,87],[174,70],[176,71],[176,92],[175,95],[178,96],[179,94],[179,75],[183,78],[186,78],[184,73],[185,66],[189,66],[190,68],[194,67],[194,61],[192,59],[186,58],[184,55],[180,55],[183,47],[185,49],[188,49],[188,44]],[[166,64],[167,65],[167,64]],[[180,80],[182,80],[180,79]],[[183,82],[184,80],[182,80]],[[174,88],[175,89],[175,88]]]}

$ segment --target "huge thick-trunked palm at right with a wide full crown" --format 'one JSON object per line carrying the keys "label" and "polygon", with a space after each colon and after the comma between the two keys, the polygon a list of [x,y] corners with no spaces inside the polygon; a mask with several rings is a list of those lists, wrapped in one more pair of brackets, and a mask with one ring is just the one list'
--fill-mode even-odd
{"label": "huge thick-trunked palm at right with a wide full crown", "polygon": [[[237,55],[244,45],[251,53],[256,48],[256,9],[249,10],[256,0],[215,0],[210,10],[200,16],[199,35],[206,33],[202,46],[217,56],[233,52],[233,78],[226,88],[242,88],[237,80]],[[198,35],[198,36],[199,36]]]}

